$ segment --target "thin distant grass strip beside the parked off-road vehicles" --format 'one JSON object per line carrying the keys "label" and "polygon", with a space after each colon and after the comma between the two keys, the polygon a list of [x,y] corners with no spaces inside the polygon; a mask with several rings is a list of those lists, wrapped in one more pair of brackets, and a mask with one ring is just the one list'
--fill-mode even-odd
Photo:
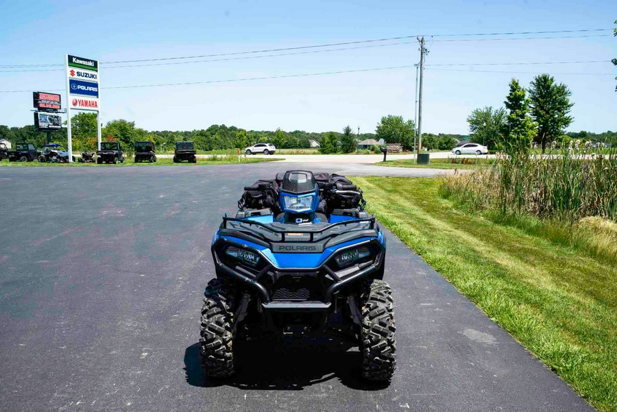
{"label": "thin distant grass strip beside the parked off-road vehicles", "polygon": [[[243,156],[240,158],[240,163],[260,163],[260,162],[276,162],[277,160],[282,160],[280,158],[244,158]],[[124,163],[118,163],[117,165],[97,165],[96,163],[39,163],[36,160],[34,162],[9,162],[8,160],[0,161],[0,167],[101,167],[101,166],[113,166],[113,167],[123,167],[125,165],[131,166],[204,166],[204,165],[237,165],[237,158],[228,158],[226,156],[220,156],[218,158],[197,158],[197,163],[189,163],[189,162],[181,162],[174,163],[171,158],[158,158],[156,162],[139,162],[134,163],[132,158],[127,158]]]}

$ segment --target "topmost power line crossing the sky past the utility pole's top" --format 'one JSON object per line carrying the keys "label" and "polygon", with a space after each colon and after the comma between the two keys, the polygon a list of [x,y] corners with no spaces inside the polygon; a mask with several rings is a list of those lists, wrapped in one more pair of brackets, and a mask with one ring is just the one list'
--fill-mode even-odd
{"label": "topmost power line crossing the sky past the utility pole's top", "polygon": [[[194,58],[239,56],[243,54],[271,53],[274,51],[291,51],[291,50],[300,50],[300,49],[314,49],[314,48],[319,48],[319,47],[335,47],[335,46],[343,46],[343,45],[357,45],[357,44],[363,44],[363,43],[378,43],[378,42],[384,42],[384,41],[416,38],[418,36],[429,36],[429,37],[513,36],[513,35],[522,35],[522,34],[559,34],[559,33],[607,32],[607,31],[612,31],[612,29],[574,29],[574,30],[550,30],[550,31],[539,31],[539,32],[464,33],[464,34],[433,34],[433,35],[413,34],[411,36],[374,38],[374,39],[369,39],[369,40],[354,40],[354,41],[340,42],[340,43],[325,43],[321,45],[282,47],[278,49],[237,51],[237,52],[232,52],[232,53],[215,53],[215,54],[203,54],[203,55],[197,55],[197,56],[177,56],[177,57],[151,58],[151,59],[140,59],[140,60],[116,60],[116,61],[100,62],[100,63],[101,64],[123,64],[123,63],[137,63],[137,62],[156,62],[156,61],[162,61],[162,60],[185,60],[185,59],[194,59]],[[606,36],[609,36],[609,35],[607,34]],[[475,40],[484,40],[484,39],[475,39]],[[486,40],[489,40],[489,39],[486,39]],[[459,40],[444,39],[444,40],[434,40],[434,41],[474,41],[474,39],[459,39]],[[2,64],[0,65],[0,67],[1,68],[53,67],[53,66],[63,66],[63,65],[64,64]]]}

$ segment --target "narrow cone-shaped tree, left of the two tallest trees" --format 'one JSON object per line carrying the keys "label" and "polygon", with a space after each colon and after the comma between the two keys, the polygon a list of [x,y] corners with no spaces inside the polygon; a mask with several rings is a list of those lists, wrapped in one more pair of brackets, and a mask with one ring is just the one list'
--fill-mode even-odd
{"label": "narrow cone-shaped tree, left of the two tallest trees", "polygon": [[518,80],[510,81],[510,93],[504,104],[508,114],[497,147],[506,153],[527,152],[537,134],[537,125],[529,116],[529,99]]}

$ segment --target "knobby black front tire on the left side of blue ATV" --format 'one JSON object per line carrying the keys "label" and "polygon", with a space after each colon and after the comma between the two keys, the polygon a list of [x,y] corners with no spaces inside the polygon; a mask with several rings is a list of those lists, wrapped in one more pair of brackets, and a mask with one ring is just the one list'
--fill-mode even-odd
{"label": "knobby black front tire on the left side of blue ATV", "polygon": [[234,291],[225,282],[213,279],[204,292],[202,323],[199,327],[199,362],[210,378],[234,374],[232,343]]}

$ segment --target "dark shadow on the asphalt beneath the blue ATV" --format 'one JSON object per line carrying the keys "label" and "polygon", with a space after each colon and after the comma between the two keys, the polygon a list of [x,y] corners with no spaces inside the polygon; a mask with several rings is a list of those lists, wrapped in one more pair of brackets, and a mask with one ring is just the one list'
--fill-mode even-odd
{"label": "dark shadow on the asphalt beneath the blue ATV", "polygon": [[385,389],[389,383],[372,383],[360,376],[357,348],[332,339],[283,342],[254,339],[234,343],[238,372],[224,379],[208,379],[199,365],[199,343],[186,348],[186,383],[197,387],[231,386],[239,389],[301,391],[317,383],[338,379],[364,391]]}

